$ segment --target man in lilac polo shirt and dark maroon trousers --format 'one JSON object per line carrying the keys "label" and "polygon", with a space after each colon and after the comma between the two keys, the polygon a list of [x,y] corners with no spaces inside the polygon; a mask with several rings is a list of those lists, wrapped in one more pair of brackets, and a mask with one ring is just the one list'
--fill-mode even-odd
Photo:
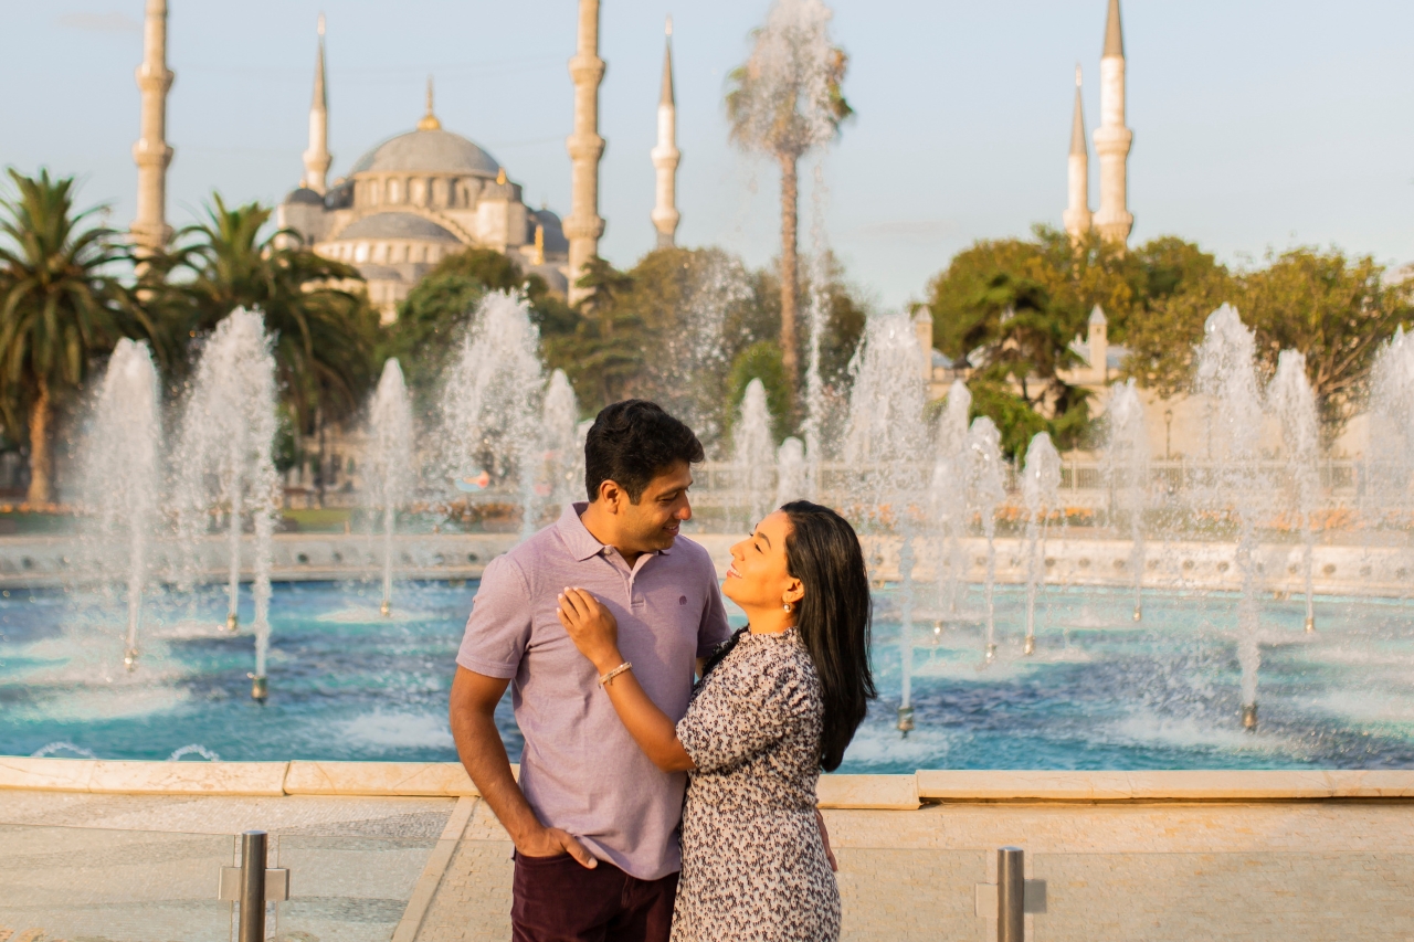
{"label": "man in lilac polo shirt and dark maroon trousers", "polygon": [[[667,942],[684,774],[660,772],[629,737],[556,615],[566,586],[591,591],[619,648],[674,720],[694,669],[730,636],[691,519],[693,431],[659,406],[605,407],[584,444],[588,504],[493,560],[467,621],[451,690],[462,765],[515,842],[512,938]],[[495,709],[506,685],[525,735],[520,784]]]}

